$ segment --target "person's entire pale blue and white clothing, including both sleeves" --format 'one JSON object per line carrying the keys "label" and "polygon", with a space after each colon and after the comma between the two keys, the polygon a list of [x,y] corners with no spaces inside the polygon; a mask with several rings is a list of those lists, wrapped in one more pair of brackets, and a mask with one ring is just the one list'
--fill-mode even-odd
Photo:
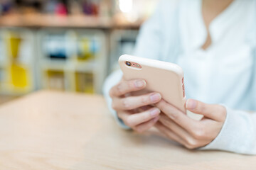
{"label": "person's entire pale blue and white clothing, including both sleeves", "polygon": [[[256,108],[256,0],[233,1],[210,23],[209,31],[212,44],[202,50],[207,32],[201,0],[164,0],[144,23],[134,55],[179,64],[187,98],[226,106],[222,130],[201,149],[256,154],[256,114],[245,112]],[[108,92],[121,77],[122,72],[114,72],[103,88],[115,118]]]}

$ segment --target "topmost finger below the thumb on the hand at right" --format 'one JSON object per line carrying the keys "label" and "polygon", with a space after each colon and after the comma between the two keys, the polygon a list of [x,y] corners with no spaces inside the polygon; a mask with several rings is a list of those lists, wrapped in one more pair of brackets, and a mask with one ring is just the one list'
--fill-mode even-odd
{"label": "topmost finger below the thumb on the hand at right", "polygon": [[188,118],[188,116],[179,111],[177,108],[167,103],[164,100],[161,100],[159,103],[156,103],[156,107],[159,108],[165,115],[167,115],[171,120],[174,120],[175,123],[180,125],[183,129],[188,132],[193,132],[192,130],[197,128],[198,121]]}

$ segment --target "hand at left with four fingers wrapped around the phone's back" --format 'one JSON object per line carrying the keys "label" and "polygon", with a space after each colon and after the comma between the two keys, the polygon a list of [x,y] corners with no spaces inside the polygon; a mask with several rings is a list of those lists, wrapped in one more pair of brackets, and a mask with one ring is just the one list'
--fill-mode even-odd
{"label": "hand at left with four fingers wrapped around the phone's back", "polygon": [[110,89],[112,108],[124,124],[137,132],[149,130],[159,120],[160,110],[152,106],[161,100],[159,93],[136,95],[146,87],[146,81],[121,80]]}

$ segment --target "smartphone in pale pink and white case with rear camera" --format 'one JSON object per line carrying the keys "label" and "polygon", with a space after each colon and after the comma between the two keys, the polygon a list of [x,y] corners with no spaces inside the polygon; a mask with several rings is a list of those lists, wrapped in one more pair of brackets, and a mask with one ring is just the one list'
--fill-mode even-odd
{"label": "smartphone in pale pink and white case with rear camera", "polygon": [[165,101],[186,113],[183,70],[177,64],[122,55],[119,66],[125,80],[144,79],[147,91],[160,93]]}

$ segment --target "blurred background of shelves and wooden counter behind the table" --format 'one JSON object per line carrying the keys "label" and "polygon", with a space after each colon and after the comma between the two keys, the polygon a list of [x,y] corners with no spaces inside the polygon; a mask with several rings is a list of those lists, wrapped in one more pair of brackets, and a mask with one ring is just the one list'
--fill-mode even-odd
{"label": "blurred background of shelves and wooden counter behind the table", "polygon": [[38,89],[100,94],[158,0],[0,0],[0,103]]}

